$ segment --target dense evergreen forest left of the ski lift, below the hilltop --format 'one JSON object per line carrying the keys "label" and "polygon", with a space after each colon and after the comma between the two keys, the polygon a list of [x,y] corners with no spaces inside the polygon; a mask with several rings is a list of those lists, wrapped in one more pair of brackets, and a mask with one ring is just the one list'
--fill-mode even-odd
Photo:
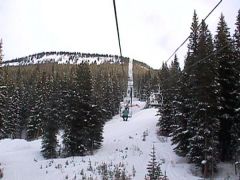
{"label": "dense evergreen forest left of the ski lift, below the hilltop", "polygon": [[[0,55],[2,61],[2,42]],[[154,73],[136,61],[134,70],[135,94],[148,92],[146,75]],[[82,156],[101,147],[104,123],[119,113],[127,63],[5,65],[0,78],[1,139],[41,137],[45,158]]]}

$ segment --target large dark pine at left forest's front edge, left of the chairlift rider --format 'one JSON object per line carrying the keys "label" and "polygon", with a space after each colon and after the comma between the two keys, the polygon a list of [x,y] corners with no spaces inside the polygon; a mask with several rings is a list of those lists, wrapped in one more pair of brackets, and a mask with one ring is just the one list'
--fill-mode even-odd
{"label": "large dark pine at left forest's front edge, left of the chairlift rider", "polygon": [[76,68],[73,84],[68,92],[68,115],[64,134],[67,155],[85,155],[99,148],[102,142],[104,118],[93,104],[92,81],[89,65]]}

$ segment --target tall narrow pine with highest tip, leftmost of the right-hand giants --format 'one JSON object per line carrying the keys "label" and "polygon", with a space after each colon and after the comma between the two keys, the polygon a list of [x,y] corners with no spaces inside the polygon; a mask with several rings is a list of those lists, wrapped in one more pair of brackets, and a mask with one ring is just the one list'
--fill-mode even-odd
{"label": "tall narrow pine with highest tip, leftmost of the right-hand giants", "polygon": [[199,23],[196,11],[193,14],[191,24],[191,33],[189,36],[188,52],[180,80],[180,95],[178,96],[178,119],[176,131],[173,137],[173,144],[176,144],[175,151],[185,156],[189,152],[189,139],[194,136],[195,128],[198,127],[196,121],[192,118],[195,106],[197,104],[194,96],[194,87],[196,86],[195,63],[198,60],[197,50],[199,41]]}

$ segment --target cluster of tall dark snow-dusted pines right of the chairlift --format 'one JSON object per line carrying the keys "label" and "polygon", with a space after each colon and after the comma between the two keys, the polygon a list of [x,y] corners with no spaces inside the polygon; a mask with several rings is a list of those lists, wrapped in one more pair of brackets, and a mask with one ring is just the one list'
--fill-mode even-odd
{"label": "cluster of tall dark snow-dusted pines right of the chairlift", "polygon": [[159,134],[204,177],[220,161],[240,160],[240,10],[235,25],[231,36],[221,14],[212,36],[194,12],[183,70],[177,56],[160,70]]}

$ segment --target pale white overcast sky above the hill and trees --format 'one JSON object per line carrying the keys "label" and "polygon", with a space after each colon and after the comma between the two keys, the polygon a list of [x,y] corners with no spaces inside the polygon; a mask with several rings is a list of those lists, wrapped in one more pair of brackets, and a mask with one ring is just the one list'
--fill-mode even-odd
{"label": "pale white overcast sky above the hill and trees", "polygon": [[[203,19],[218,2],[116,0],[123,56],[159,68],[189,35],[194,9]],[[233,32],[239,9],[240,0],[223,0],[207,19],[212,34],[221,12]],[[112,0],[0,0],[0,38],[4,60],[42,51],[119,55]]]}

